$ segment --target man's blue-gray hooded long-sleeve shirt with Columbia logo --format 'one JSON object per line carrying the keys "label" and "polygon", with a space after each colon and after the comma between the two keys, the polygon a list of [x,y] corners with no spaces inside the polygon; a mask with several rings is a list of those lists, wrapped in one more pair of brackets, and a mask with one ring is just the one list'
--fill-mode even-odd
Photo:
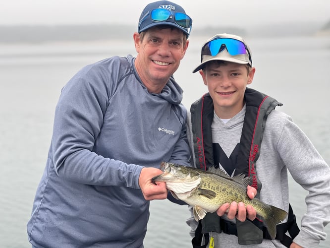
{"label": "man's blue-gray hooded long-sleeve shirt with Columbia logo", "polygon": [[149,201],[143,166],[188,165],[186,109],[171,78],[149,93],[134,58],[112,57],[80,70],[62,89],[29,241],[36,247],[138,248]]}

